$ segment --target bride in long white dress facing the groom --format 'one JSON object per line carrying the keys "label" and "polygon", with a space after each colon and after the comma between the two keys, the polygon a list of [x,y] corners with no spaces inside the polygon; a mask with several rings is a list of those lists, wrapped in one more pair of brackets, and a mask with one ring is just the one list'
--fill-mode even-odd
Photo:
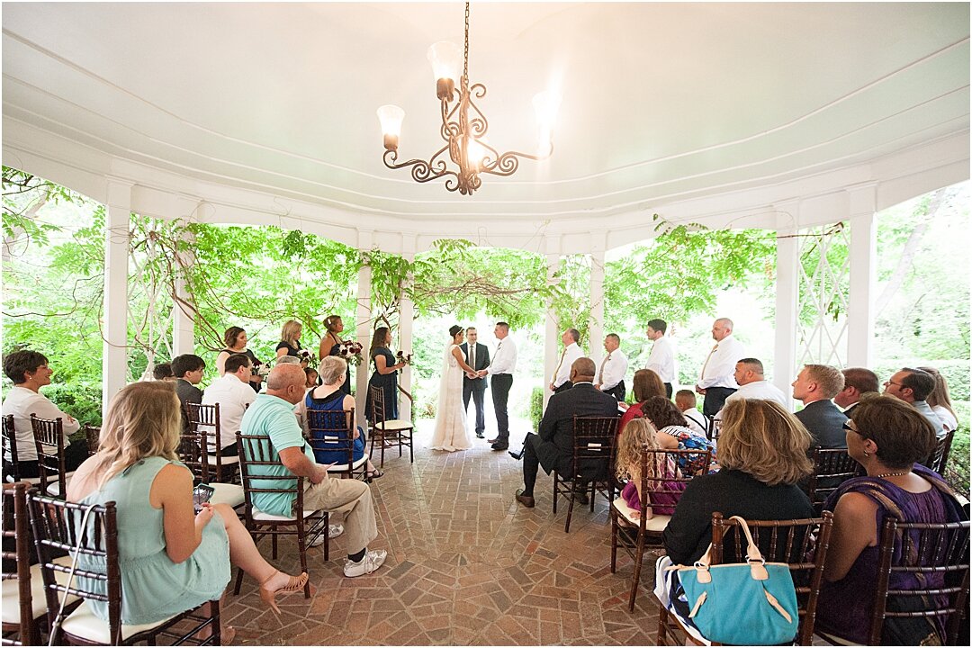
{"label": "bride in long white dress facing the groom", "polygon": [[469,450],[472,439],[466,429],[466,408],[463,406],[463,376],[475,373],[466,363],[466,355],[459,345],[463,343],[463,327],[449,329],[449,344],[442,358],[442,382],[438,388],[438,406],[435,414],[435,431],[432,435],[433,450]]}

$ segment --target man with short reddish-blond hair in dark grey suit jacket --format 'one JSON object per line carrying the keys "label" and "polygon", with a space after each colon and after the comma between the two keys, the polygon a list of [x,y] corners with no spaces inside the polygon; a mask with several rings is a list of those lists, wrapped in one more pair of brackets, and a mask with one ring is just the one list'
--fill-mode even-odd
{"label": "man with short reddish-blond hair in dark grey suit jacket", "polygon": [[803,402],[796,413],[814,437],[814,448],[844,448],[844,423],[848,420],[830,399],[844,389],[844,374],[826,364],[806,364],[793,381],[793,397]]}

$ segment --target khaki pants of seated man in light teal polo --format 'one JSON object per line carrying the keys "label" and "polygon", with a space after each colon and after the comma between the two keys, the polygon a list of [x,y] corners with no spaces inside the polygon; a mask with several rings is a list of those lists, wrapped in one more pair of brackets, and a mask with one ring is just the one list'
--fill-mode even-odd
{"label": "khaki pants of seated man in light teal polo", "polygon": [[378,537],[371,489],[357,479],[328,477],[320,484],[311,484],[304,489],[304,508],[308,511],[323,509],[331,515],[347,514],[344,536],[349,554],[361,551],[368,542]]}

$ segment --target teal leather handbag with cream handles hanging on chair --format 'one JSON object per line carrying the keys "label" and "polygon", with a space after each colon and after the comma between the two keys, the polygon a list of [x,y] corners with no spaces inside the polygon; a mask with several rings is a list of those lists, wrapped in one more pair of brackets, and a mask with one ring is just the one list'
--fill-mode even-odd
{"label": "teal leather handbag with cream handles hanging on chair", "polygon": [[710,564],[706,552],[695,566],[679,566],[678,577],[692,610],[689,619],[710,641],[736,645],[792,642],[800,616],[786,563],[767,563],[752,541],[746,520],[746,563]]}

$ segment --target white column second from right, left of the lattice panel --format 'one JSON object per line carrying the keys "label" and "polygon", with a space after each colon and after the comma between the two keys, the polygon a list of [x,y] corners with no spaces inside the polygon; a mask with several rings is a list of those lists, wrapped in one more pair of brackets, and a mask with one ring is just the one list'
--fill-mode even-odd
{"label": "white column second from right, left of the lattice panel", "polygon": [[796,370],[797,303],[800,299],[799,245],[796,239],[798,204],[778,206],[777,226],[777,316],[773,358],[773,384],[781,392],[793,392],[790,383]]}

